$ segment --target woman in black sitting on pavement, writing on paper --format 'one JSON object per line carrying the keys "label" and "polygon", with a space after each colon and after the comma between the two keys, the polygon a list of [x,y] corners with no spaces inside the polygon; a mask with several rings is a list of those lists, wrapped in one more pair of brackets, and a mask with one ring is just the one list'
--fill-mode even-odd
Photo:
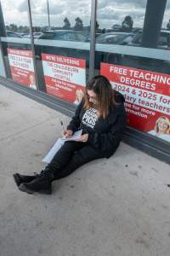
{"label": "woman in black sitting on pavement, writing on paper", "polygon": [[77,141],[67,141],[40,174],[14,174],[19,189],[28,194],[52,193],[52,182],[74,172],[91,160],[109,158],[116,151],[126,127],[124,97],[104,76],[88,81],[82,102],[63,136],[82,129]]}

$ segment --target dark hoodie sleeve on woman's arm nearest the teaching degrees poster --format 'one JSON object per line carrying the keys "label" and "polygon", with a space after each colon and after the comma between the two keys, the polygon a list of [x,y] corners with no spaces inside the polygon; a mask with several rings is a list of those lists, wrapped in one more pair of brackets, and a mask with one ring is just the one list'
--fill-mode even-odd
{"label": "dark hoodie sleeve on woman's arm nearest the teaching degrees poster", "polygon": [[[89,133],[88,143],[100,151],[112,152],[119,145],[126,127],[126,113],[123,102],[108,117],[110,130],[107,133]],[[116,115],[116,117],[115,117]]]}

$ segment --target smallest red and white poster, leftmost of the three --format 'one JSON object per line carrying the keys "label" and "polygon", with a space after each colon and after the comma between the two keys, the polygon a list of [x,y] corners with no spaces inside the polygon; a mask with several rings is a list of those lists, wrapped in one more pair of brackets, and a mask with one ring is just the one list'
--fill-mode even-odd
{"label": "smallest red and white poster, leftmost of the three", "polygon": [[37,89],[31,50],[7,49],[8,61],[14,82]]}

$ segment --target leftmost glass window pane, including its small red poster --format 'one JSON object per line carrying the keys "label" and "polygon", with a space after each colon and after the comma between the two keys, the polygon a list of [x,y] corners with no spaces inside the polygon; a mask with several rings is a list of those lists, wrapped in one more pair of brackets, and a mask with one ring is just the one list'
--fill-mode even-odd
{"label": "leftmost glass window pane, including its small red poster", "polygon": [[37,90],[31,51],[27,1],[1,1],[1,41],[8,79]]}

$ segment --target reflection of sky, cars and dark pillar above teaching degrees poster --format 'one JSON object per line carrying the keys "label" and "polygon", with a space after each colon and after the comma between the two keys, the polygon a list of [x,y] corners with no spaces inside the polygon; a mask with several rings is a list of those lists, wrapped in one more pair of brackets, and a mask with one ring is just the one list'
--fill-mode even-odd
{"label": "reflection of sky, cars and dark pillar above teaching degrees poster", "polygon": [[[122,37],[122,32],[126,32],[131,37],[125,43],[123,42],[124,45],[169,49],[169,8],[169,0],[154,2],[151,0],[113,0],[111,2],[99,0],[96,22],[97,43],[122,44],[119,35]],[[100,40],[104,33],[104,40]]]}

